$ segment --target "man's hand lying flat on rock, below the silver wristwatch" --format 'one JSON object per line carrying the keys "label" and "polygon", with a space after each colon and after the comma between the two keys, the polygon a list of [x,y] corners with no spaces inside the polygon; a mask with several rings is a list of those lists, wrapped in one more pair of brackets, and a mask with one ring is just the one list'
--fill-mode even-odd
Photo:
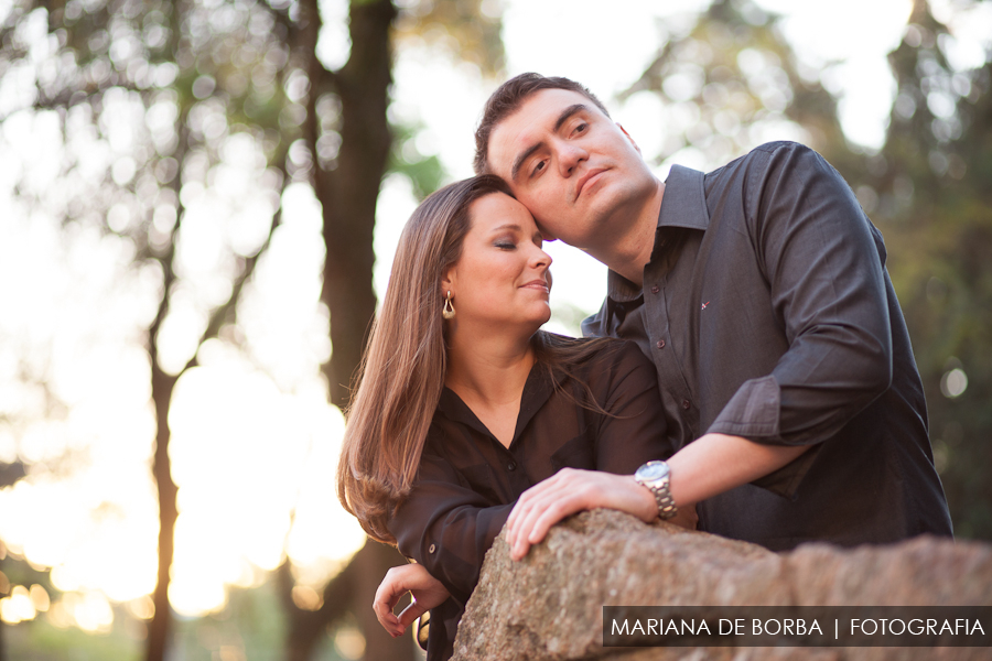
{"label": "man's hand lying flat on rock, below the silver wristwatch", "polygon": [[562,468],[517,500],[506,522],[510,556],[521,560],[552,525],[575,512],[596,508],[621,510],[645,522],[658,516],[650,490],[630,475]]}

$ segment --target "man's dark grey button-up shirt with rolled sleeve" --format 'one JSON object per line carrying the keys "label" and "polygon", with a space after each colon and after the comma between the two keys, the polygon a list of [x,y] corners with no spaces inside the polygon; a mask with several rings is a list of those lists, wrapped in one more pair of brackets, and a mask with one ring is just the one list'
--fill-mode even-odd
{"label": "man's dark grey button-up shirt with rolled sleeve", "polygon": [[773,550],[951,534],[885,257],[847,183],[800,144],[672,167],[644,288],[611,271],[583,332],[654,361],[678,446],[707,432],[813,446],[701,502],[700,529]]}

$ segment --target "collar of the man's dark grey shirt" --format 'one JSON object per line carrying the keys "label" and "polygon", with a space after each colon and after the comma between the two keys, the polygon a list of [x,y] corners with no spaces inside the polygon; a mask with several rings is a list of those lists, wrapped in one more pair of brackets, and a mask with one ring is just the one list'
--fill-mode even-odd
{"label": "collar of the man's dark grey shirt", "polygon": [[[709,225],[705,175],[698,170],[672,165],[668,178],[665,180],[665,195],[661,197],[661,210],[658,213],[658,229],[688,227],[705,230]],[[651,253],[651,259],[659,249],[661,235],[661,231],[655,232],[655,252]],[[606,295],[614,303],[629,303],[644,294],[639,286],[616,271],[610,270],[606,274]]]}

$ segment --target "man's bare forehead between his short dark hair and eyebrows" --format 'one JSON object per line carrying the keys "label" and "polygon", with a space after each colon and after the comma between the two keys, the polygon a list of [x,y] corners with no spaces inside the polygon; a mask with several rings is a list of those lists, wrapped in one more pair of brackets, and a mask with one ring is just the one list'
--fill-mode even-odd
{"label": "man's bare forehead between his short dark hair and eyebrows", "polygon": [[529,96],[489,133],[492,170],[509,180],[509,170],[517,153],[530,148],[540,140],[541,134],[552,131],[561,112],[575,105],[596,109],[592,99],[571,89],[540,89]]}

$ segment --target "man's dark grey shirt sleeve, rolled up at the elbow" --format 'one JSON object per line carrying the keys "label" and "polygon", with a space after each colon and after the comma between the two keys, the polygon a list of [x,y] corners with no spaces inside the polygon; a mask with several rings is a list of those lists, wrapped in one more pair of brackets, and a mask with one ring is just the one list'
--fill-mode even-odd
{"label": "man's dark grey shirt sleeve, rolled up at the elbow", "polygon": [[766,152],[746,220],[788,350],[745,381],[710,432],[785,445],[834,435],[892,380],[881,235],[851,188],[799,144]]}

